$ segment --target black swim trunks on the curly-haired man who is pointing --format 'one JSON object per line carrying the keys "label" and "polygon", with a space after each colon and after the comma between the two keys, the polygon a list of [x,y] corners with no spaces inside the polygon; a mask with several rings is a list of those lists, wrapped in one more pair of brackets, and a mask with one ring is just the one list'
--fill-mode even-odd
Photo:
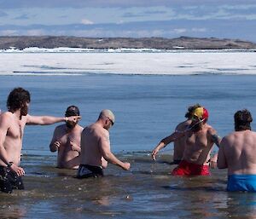
{"label": "black swim trunks on the curly-haired man who is pointing", "polygon": [[5,166],[0,166],[0,189],[3,193],[12,193],[13,189],[24,189],[21,176]]}

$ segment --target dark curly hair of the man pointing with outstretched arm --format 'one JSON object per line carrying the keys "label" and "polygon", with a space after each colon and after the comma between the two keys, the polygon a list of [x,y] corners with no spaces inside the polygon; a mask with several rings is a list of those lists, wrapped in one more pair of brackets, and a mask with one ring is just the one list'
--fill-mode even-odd
{"label": "dark curly hair of the man pointing with outstretched arm", "polygon": [[26,89],[15,88],[8,96],[6,106],[10,112],[15,112],[30,103],[30,94]]}

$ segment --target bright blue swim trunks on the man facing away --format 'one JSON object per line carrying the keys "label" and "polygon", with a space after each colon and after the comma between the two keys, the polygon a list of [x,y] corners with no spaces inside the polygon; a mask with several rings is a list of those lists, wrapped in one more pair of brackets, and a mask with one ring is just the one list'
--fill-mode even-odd
{"label": "bright blue swim trunks on the man facing away", "polygon": [[256,192],[256,175],[230,175],[227,190]]}

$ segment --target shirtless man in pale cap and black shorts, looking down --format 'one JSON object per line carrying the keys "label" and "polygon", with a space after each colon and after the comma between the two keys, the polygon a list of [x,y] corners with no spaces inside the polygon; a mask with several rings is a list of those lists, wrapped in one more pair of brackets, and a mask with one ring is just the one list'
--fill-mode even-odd
{"label": "shirtless man in pale cap and black shorts, looking down", "polygon": [[114,115],[110,110],[102,110],[96,123],[85,127],[81,136],[81,164],[78,178],[103,176],[103,168],[109,163],[124,170],[130,169],[130,163],[123,163],[110,150],[109,132],[113,126]]}

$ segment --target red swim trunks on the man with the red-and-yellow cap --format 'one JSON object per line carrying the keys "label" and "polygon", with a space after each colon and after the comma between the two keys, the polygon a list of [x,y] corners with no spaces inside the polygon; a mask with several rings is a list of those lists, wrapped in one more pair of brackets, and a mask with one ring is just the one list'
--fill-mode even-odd
{"label": "red swim trunks on the man with the red-and-yellow cap", "polygon": [[182,160],[178,166],[172,170],[172,176],[209,176],[209,166],[192,164]]}

